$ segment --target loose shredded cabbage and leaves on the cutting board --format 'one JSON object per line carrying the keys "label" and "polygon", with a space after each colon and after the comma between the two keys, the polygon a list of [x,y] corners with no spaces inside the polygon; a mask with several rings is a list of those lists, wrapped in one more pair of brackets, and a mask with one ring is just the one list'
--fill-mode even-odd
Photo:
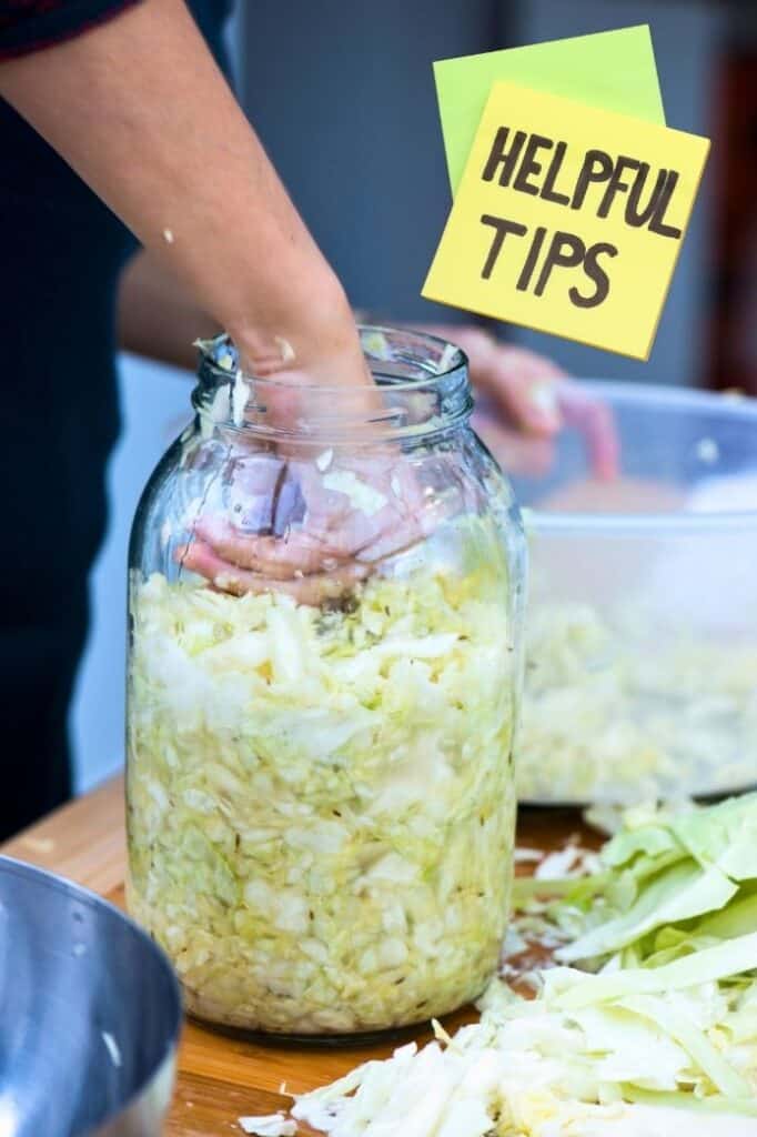
{"label": "loose shredded cabbage and leaves on the cutting board", "polygon": [[516,886],[523,937],[564,941],[533,999],[496,981],[480,1023],[436,1027],[292,1117],[333,1137],[752,1137],[757,796],[638,810],[588,864]]}

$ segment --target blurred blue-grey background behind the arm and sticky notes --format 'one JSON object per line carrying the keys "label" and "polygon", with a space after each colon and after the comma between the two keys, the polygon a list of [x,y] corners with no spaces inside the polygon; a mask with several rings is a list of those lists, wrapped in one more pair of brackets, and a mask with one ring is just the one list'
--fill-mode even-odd
{"label": "blurred blue-grey background behind the arm and sticky notes", "polygon": [[[713,139],[650,360],[502,333],[577,376],[757,393],[755,0],[236,3],[227,43],[240,98],[352,304],[386,322],[471,318],[419,297],[450,206],[432,61],[650,24],[668,125]],[[128,529],[142,485],[189,418],[188,372],[123,356],[120,384],[110,529],[72,712],[80,791],[123,761]]]}

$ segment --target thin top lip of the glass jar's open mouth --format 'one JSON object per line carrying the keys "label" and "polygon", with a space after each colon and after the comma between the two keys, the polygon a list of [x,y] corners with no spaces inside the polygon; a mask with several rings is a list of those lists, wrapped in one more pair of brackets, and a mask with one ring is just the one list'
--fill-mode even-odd
{"label": "thin top lip of the glass jar's open mouth", "polygon": [[[372,373],[376,379],[392,379],[391,388],[393,391],[416,391],[419,387],[431,387],[433,383],[439,383],[443,379],[455,375],[456,372],[461,372],[460,377],[465,377],[467,381],[468,373],[468,357],[458,347],[457,343],[444,339],[441,335],[435,335],[433,332],[419,332],[413,327],[391,327],[386,324],[358,324],[358,334],[360,337],[360,342],[366,347],[366,342],[369,342],[372,338],[383,338],[386,340],[391,337],[401,335],[406,340],[416,343],[418,347],[435,346],[440,349],[440,362],[439,367],[434,371],[426,371],[424,374],[418,374],[415,376],[408,376],[404,380],[394,380],[390,372],[382,372],[378,366],[372,366]],[[240,377],[259,384],[263,388],[278,388],[282,391],[301,391],[303,390],[303,384],[298,383],[292,380],[277,379],[275,375],[260,377],[252,372],[240,371],[239,368],[239,357],[236,355],[236,348],[232,341],[231,335],[227,332],[221,332],[218,335],[214,335],[211,339],[199,339],[194,341],[194,347],[200,354],[201,366],[207,367],[210,372],[215,373],[219,379],[228,380],[230,376],[234,376],[238,373]],[[218,356],[225,350],[230,357],[231,362],[228,366],[224,366]],[[381,364],[382,360],[380,356],[369,355],[368,359],[376,365]],[[344,395],[346,388],[340,384],[328,384],[328,383],[313,383],[308,384],[308,390],[315,390],[323,393],[333,392],[336,395]]]}

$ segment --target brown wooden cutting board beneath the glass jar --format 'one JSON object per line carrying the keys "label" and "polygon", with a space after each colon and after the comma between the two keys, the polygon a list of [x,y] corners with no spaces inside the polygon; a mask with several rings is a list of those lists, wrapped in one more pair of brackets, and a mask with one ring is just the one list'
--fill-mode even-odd
{"label": "brown wooden cutting board beneath the glass jar", "polygon": [[[58,872],[99,893],[123,907],[125,833],[123,781],[100,789],[58,810],[32,829],[8,841],[0,852]],[[518,844],[551,850],[572,833],[585,844],[596,837],[582,830],[573,811],[529,810],[521,815]],[[450,1016],[448,1030],[474,1018],[461,1012]],[[425,1041],[430,1034],[406,1036]],[[347,1073],[369,1057],[386,1057],[397,1039],[363,1048],[290,1047],[228,1037],[197,1023],[185,1026],[178,1055],[178,1077],[168,1119],[170,1137],[215,1137],[240,1132],[236,1119],[243,1114],[285,1110],[289,1098],[281,1094],[314,1089]]]}

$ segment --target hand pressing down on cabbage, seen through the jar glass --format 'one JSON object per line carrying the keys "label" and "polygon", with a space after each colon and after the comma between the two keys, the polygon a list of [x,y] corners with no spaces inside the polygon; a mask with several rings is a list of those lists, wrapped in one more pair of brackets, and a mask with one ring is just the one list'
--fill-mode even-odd
{"label": "hand pressing down on cabbage, seen through the jar glass", "polygon": [[321,605],[432,532],[451,508],[443,495],[424,493],[396,454],[325,458],[235,459],[228,508],[191,523],[176,550],[182,568],[235,596],[278,591]]}

